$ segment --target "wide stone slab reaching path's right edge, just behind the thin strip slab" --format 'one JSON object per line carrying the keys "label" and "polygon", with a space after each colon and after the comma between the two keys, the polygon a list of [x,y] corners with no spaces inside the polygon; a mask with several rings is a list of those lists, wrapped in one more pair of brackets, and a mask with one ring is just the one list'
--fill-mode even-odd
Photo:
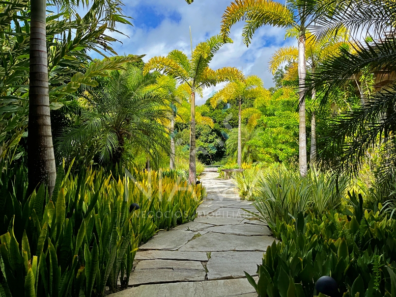
{"label": "wide stone slab reaching path's right edge, just behind the thin strip slab", "polygon": [[180,251],[266,251],[274,242],[268,236],[240,236],[209,232],[185,244]]}

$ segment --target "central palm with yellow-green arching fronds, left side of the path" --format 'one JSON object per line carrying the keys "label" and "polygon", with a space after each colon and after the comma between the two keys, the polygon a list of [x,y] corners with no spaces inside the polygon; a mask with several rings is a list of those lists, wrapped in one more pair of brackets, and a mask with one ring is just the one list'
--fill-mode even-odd
{"label": "central palm with yellow-green arching fronds, left side of the path", "polygon": [[197,180],[196,170],[196,112],[195,96],[199,88],[211,87],[223,81],[243,80],[243,74],[236,68],[224,67],[218,70],[209,68],[209,63],[217,51],[225,44],[232,42],[221,36],[213,36],[206,42],[199,43],[194,49],[191,58],[181,51],[173,50],[168,56],[151,58],[144,67],[144,72],[158,70],[170,75],[180,83],[190,87],[191,123],[190,123],[190,169],[189,183],[195,185]]}

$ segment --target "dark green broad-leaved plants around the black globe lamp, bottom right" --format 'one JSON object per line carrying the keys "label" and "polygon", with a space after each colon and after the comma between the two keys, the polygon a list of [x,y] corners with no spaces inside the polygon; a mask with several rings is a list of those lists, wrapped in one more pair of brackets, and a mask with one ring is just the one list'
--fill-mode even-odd
{"label": "dark green broad-leaved plants around the black globe lamp, bottom right", "polygon": [[[364,211],[363,199],[344,213],[300,212],[296,219],[270,223],[281,242],[268,246],[258,266],[258,282],[247,274],[259,297],[311,297],[321,276],[332,276],[343,297],[396,294],[396,221]],[[358,295],[359,293],[359,295]]]}

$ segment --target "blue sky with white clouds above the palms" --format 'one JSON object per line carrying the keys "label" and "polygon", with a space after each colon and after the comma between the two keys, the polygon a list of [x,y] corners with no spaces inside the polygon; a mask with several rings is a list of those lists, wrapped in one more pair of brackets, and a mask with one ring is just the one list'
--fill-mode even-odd
{"label": "blue sky with white clouds above the palms", "polygon": [[[124,14],[134,19],[134,27],[118,26],[117,29],[128,35],[114,36],[122,42],[114,49],[122,54],[146,54],[144,61],[156,55],[167,55],[178,49],[191,53],[190,26],[193,46],[207,38],[219,34],[223,12],[231,0],[195,0],[188,5],[185,0],[124,0]],[[262,78],[265,87],[274,85],[268,70],[268,61],[276,49],[296,42],[284,40],[284,30],[262,27],[254,35],[247,48],[242,42],[242,26],[239,23],[231,29],[233,44],[225,45],[214,57],[211,68],[233,66],[243,70],[245,75],[255,74]],[[218,85],[214,90],[220,88]],[[212,89],[204,90],[203,104]]]}

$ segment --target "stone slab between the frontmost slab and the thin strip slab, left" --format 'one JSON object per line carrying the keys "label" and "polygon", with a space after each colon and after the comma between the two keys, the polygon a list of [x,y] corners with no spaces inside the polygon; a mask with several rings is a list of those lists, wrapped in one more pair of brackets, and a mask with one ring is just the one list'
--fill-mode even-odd
{"label": "stone slab between the frontmost slab and the thin strip slab, left", "polygon": [[203,281],[206,271],[197,261],[145,260],[129,277],[129,286],[166,282]]}

